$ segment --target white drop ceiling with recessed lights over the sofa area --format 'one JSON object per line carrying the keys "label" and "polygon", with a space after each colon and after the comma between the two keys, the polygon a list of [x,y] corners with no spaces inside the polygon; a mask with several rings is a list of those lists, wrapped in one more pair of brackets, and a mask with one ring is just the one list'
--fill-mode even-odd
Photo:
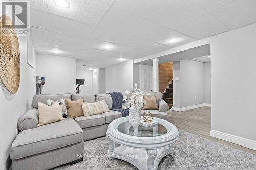
{"label": "white drop ceiling with recessed lights over the sofa area", "polygon": [[78,69],[110,67],[256,22],[255,0],[68,1],[68,9],[30,1],[30,36],[37,53],[75,57]]}

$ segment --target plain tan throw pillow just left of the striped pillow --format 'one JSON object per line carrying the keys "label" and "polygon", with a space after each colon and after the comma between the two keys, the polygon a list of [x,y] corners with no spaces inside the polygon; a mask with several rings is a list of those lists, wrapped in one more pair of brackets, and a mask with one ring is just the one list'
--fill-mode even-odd
{"label": "plain tan throw pillow just left of the striped pillow", "polygon": [[69,118],[76,118],[79,116],[83,116],[83,112],[82,112],[82,102],[83,99],[80,98],[76,101],[70,101],[70,100],[66,100],[66,105],[68,108],[68,117]]}

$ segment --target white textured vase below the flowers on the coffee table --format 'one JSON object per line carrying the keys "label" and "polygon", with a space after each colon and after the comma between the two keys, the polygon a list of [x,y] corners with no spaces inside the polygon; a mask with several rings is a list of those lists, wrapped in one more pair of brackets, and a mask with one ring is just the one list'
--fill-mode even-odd
{"label": "white textured vase below the flowers on the coffee table", "polygon": [[129,123],[133,127],[138,127],[141,123],[141,109],[137,109],[134,106],[129,108]]}

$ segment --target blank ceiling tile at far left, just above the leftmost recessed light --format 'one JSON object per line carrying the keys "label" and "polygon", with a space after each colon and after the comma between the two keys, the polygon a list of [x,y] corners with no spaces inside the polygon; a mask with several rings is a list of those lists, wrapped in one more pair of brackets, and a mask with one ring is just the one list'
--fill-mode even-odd
{"label": "blank ceiling tile at far left, just above the leftmost recessed light", "polygon": [[49,41],[41,38],[30,37],[34,46],[45,46],[52,48],[60,48],[65,50],[77,51],[78,45],[67,44],[57,41]]}

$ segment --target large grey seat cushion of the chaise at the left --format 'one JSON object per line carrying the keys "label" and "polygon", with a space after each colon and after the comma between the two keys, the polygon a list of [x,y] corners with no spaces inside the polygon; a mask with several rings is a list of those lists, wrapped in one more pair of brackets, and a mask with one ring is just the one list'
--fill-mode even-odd
{"label": "large grey seat cushion of the chaise at the left", "polygon": [[83,132],[73,119],[65,119],[20,132],[11,146],[11,159],[51,151],[83,141]]}

